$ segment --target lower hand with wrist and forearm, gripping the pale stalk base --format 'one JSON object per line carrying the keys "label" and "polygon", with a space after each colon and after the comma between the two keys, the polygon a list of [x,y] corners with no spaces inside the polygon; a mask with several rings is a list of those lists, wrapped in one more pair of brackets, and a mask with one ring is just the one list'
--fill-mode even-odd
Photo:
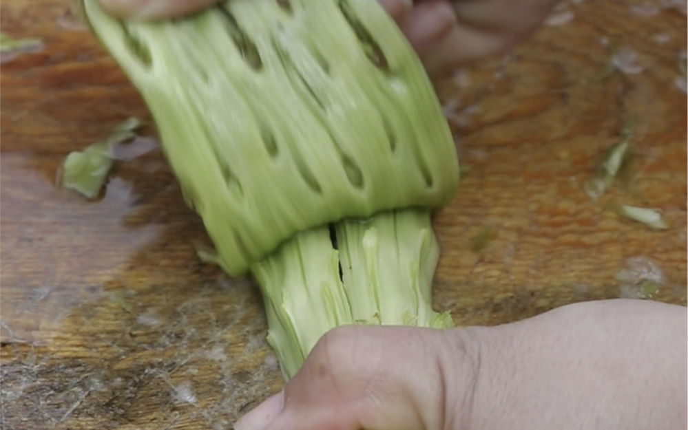
{"label": "lower hand with wrist and forearm, gripping the pale stalk base", "polygon": [[685,429],[687,312],[578,303],[497,327],[340,327],[236,430]]}

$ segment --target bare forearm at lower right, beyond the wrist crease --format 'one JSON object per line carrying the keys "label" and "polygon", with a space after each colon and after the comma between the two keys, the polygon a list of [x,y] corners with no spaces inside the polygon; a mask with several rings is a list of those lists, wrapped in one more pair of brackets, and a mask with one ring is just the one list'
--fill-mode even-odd
{"label": "bare forearm at lower right, beyond the wrist crease", "polygon": [[478,329],[475,429],[685,429],[687,312],[578,303]]}

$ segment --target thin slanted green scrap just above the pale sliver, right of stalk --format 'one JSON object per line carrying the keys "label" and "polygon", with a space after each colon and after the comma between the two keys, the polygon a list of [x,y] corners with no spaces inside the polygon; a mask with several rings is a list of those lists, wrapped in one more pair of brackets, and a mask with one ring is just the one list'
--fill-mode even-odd
{"label": "thin slanted green scrap just above the pale sliver, right of stalk", "polygon": [[621,129],[619,141],[603,157],[598,173],[585,185],[585,194],[592,200],[598,200],[614,184],[616,175],[628,161],[628,148],[635,129],[636,120],[630,118]]}

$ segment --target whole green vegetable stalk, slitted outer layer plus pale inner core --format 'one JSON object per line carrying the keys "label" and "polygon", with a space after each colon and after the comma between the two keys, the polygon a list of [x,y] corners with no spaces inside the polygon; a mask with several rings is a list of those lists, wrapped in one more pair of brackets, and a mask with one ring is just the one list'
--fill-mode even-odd
{"label": "whole green vegetable stalk, slitted outer layer plus pale inner core", "polygon": [[437,96],[370,0],[226,0],[143,23],[83,0],[229,275],[253,272],[287,378],[352,323],[448,327],[430,213],[457,189]]}

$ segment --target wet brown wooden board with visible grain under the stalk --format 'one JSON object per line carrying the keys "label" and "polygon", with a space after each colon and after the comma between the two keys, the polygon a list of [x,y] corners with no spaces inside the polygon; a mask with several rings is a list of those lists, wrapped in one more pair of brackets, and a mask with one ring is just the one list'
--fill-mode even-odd
{"label": "wet brown wooden board with visible grain under the stalk", "polygon": [[[659,276],[653,299],[686,304],[686,18],[643,5],[566,4],[561,25],[438,83],[466,166],[435,220],[435,305],[457,324],[632,297],[639,270]],[[0,7],[3,32],[45,44],[1,67],[2,428],[228,429],[282,387],[260,295],[198,261],[209,241],[159,151],[116,164],[97,202],[55,186],[67,153],[149,118],[67,8]],[[623,49],[625,72],[609,67]],[[632,175],[591,202],[583,187],[631,117]]]}

